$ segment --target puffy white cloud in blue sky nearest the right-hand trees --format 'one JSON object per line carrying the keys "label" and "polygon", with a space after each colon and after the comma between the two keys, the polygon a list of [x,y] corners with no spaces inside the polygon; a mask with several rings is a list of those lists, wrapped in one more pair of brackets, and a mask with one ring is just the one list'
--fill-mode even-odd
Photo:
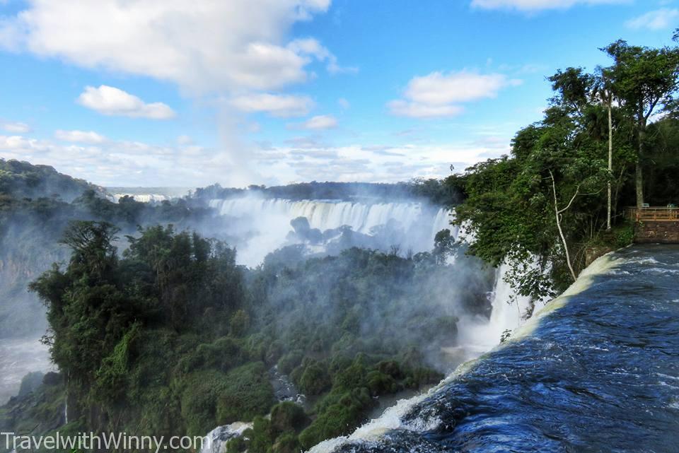
{"label": "puffy white cloud in blue sky nearest the right-hand trees", "polygon": [[463,112],[459,104],[495,98],[499,90],[521,81],[504,74],[480,74],[471,71],[443,73],[436,71],[414,77],[408,82],[402,100],[387,104],[392,114],[413,118],[451,117]]}

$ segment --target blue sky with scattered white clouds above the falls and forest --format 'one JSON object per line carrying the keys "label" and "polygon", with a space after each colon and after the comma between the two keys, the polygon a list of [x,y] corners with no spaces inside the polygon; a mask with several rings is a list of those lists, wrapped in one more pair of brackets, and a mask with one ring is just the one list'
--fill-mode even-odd
{"label": "blue sky with scattered white clouds above the falls and forest", "polygon": [[105,186],[443,177],[679,0],[0,0],[0,158]]}

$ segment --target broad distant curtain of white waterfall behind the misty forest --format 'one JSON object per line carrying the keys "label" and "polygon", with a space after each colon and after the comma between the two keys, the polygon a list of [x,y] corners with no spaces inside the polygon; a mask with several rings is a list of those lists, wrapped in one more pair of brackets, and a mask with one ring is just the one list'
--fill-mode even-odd
{"label": "broad distant curtain of white waterfall behind the misty forest", "polygon": [[[251,239],[239,247],[239,261],[254,266],[260,264],[267,253],[289,244],[287,235],[292,230],[290,221],[306,217],[311,228],[321,232],[348,225],[357,233],[373,235],[382,225],[396,227],[403,234],[395,237],[392,245],[402,252],[423,252],[434,246],[434,236],[449,228],[451,211],[419,202],[354,203],[349,201],[318,201],[287,199],[262,199],[253,196],[235,199],[214,199],[209,206],[221,215],[238,218],[243,231]],[[250,222],[243,223],[244,219]],[[242,225],[247,225],[243,227]]]}

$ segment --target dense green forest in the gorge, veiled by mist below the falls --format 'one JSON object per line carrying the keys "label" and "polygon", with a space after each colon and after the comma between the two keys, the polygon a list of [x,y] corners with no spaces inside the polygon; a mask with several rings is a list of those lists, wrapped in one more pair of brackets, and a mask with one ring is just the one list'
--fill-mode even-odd
{"label": "dense green forest in the gorge, veiled by mist below the falls", "polygon": [[[31,284],[66,381],[66,431],[204,435],[255,418],[230,451],[296,452],[349,433],[376,397],[439,382],[456,314],[489,308],[492,272],[478,261],[453,271],[442,255],[460,251],[446,233],[413,257],[349,249],[284,264],[274,254],[258,269],[172,227],[141,229],[122,257],[116,235],[110,223],[71,224],[68,266]],[[313,402],[306,411],[277,403],[274,365]],[[39,411],[54,407],[46,400]]]}

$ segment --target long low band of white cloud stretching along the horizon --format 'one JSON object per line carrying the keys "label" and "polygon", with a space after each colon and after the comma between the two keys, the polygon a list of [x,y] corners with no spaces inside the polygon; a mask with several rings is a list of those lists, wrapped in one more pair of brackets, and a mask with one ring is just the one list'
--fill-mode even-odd
{"label": "long low band of white cloud stretching along the horizon", "polygon": [[52,165],[96,184],[202,187],[213,182],[225,186],[284,184],[294,181],[335,180],[397,182],[412,177],[442,177],[450,165],[468,165],[509,151],[509,136],[439,145],[332,146],[313,137],[291,139],[282,146],[262,143],[248,150],[259,174],[238,179],[242,166],[224,147],[160,146],[139,141],[102,143],[1,136],[0,157]]}

